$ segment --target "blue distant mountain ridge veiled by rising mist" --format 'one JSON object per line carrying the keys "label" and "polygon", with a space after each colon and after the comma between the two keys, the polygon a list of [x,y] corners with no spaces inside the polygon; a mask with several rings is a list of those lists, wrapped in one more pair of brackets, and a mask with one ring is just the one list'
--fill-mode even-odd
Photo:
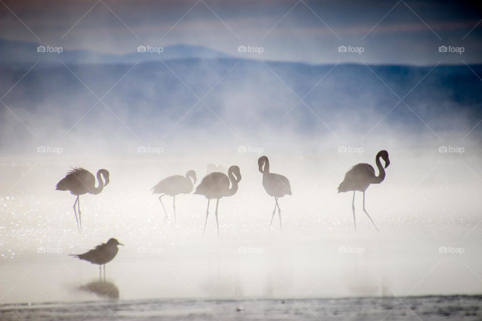
{"label": "blue distant mountain ridge veiled by rising mist", "polygon": [[[32,51],[32,44],[17,46]],[[63,56],[68,68],[57,58],[41,60],[28,74],[33,63],[0,63],[0,92],[8,92],[2,101],[33,132],[48,136],[58,131],[57,139],[72,126],[68,135],[91,140],[105,136],[106,128],[117,135],[159,138],[168,133],[189,139],[201,137],[198,131],[253,139],[267,133],[323,137],[347,132],[376,138],[390,131],[443,139],[453,136],[444,133],[458,131],[461,139],[471,128],[471,137],[482,136],[482,124],[476,126],[482,119],[482,82],[475,75],[482,75],[482,65],[432,69],[263,62],[190,45],[167,47],[163,53],[172,58],[134,66],[145,53],[87,59],[76,52],[69,59]],[[106,93],[102,102],[111,112],[98,103]],[[0,121],[0,137],[31,139],[7,108],[0,108]]]}

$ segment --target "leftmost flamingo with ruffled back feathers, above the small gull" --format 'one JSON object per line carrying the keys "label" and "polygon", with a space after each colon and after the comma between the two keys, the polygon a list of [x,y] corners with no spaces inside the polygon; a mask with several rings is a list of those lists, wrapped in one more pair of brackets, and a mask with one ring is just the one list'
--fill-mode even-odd
{"label": "leftmost flamingo with ruffled back feathers, above the small gull", "polygon": [[[101,175],[103,177],[103,180],[100,177]],[[74,202],[73,209],[75,213],[75,221],[77,222],[77,230],[79,231],[79,233],[82,232],[82,219],[80,217],[81,213],[79,196],[86,193],[97,195],[102,192],[104,186],[107,186],[107,184],[109,184],[109,172],[103,169],[98,170],[97,182],[98,186],[95,187],[95,178],[92,173],[78,167],[70,170],[67,175],[62,180],[60,180],[59,183],[57,183],[57,186],[55,188],[56,191],[70,191],[70,194],[77,196]],[[79,212],[78,219],[77,211],[75,210],[76,204]]]}

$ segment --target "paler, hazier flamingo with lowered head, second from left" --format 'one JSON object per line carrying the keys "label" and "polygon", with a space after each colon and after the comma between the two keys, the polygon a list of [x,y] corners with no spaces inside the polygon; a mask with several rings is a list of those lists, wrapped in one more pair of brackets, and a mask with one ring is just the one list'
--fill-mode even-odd
{"label": "paler, hazier flamingo with lowered head, second from left", "polygon": [[[192,180],[192,182],[191,182]],[[193,170],[187,171],[186,176],[182,175],[174,175],[169,176],[159,182],[156,186],[154,186],[152,190],[152,194],[162,194],[159,196],[159,202],[161,202],[162,208],[164,210],[164,221],[167,220],[167,212],[164,208],[164,204],[162,204],[162,197],[164,195],[170,195],[173,197],[172,201],[172,208],[174,210],[174,222],[176,221],[176,195],[179,194],[188,194],[192,192],[193,184],[196,184],[196,172]]]}

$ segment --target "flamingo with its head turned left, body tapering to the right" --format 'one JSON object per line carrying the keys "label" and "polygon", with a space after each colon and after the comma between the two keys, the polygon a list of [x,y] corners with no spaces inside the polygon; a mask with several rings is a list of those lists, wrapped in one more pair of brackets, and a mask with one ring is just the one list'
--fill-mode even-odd
{"label": "flamingo with its head turned left, body tapering to the right", "polygon": [[275,173],[270,173],[270,161],[268,157],[261,156],[258,159],[259,171],[263,174],[263,187],[269,196],[275,198],[275,209],[273,210],[273,216],[271,217],[270,229],[273,224],[273,218],[275,217],[276,207],[278,207],[278,215],[280,216],[280,229],[283,230],[281,226],[281,209],[278,204],[278,198],[285,195],[291,195],[290,181],[283,176]]}

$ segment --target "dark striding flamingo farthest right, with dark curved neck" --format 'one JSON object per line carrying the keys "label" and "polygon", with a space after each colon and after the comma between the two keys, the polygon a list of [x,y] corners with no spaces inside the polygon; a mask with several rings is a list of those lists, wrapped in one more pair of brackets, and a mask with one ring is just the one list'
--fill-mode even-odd
{"label": "dark striding flamingo farthest right, with dark curved neck", "polygon": [[[380,162],[380,158],[385,162],[385,168]],[[353,210],[353,222],[355,224],[356,232],[356,220],[355,220],[355,191],[363,192],[363,211],[367,214],[373,225],[380,231],[372,220],[367,210],[365,209],[365,191],[368,189],[370,184],[380,184],[385,180],[385,169],[390,165],[390,159],[388,158],[388,151],[380,150],[375,156],[375,163],[378,168],[378,176],[375,176],[375,170],[370,164],[361,163],[353,166],[345,174],[343,182],[338,186],[338,193],[353,191],[353,202],[351,203],[351,209]]]}

